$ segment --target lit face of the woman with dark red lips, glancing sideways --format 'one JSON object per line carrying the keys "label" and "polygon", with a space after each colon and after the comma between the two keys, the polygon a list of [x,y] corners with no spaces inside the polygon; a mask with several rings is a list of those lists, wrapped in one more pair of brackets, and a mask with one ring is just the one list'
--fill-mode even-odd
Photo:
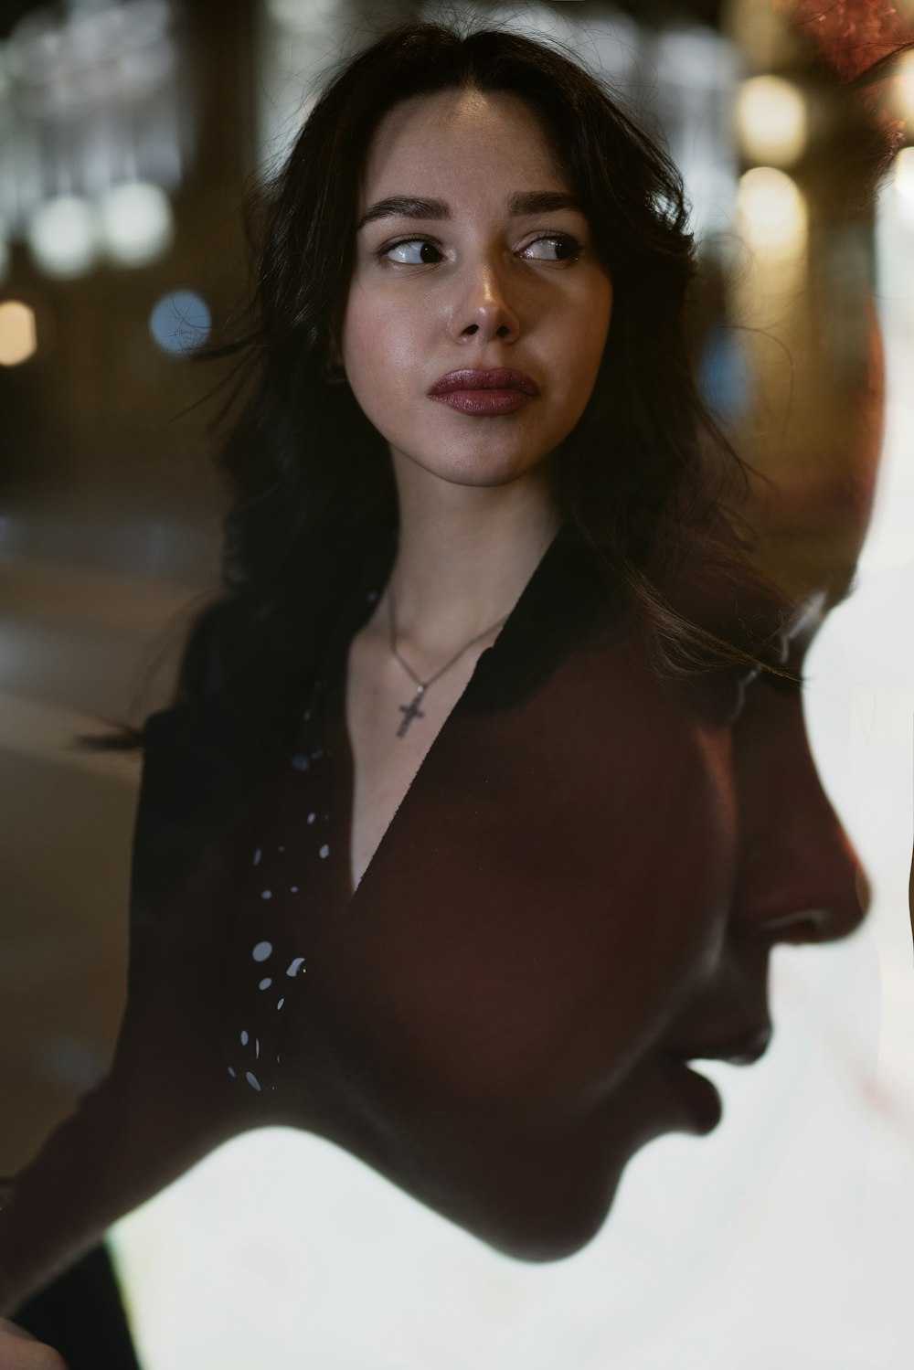
{"label": "lit face of the woman with dark red lips, glancing sideways", "polygon": [[[613,308],[536,116],[477,92],[395,105],[358,221],[340,359],[395,460],[458,485],[533,471],[584,412]],[[460,389],[433,395],[444,377]]]}

